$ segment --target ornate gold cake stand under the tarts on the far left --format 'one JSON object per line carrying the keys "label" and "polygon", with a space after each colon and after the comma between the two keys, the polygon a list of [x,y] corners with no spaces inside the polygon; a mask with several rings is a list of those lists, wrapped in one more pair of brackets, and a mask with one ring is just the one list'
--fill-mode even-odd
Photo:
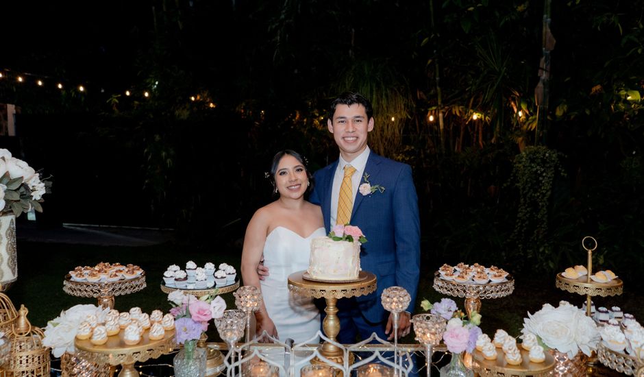
{"label": "ornate gold cake stand under the tarts on the far left", "polygon": [[77,282],[69,273],[62,281],[62,290],[68,295],[77,297],[94,297],[98,306],[114,308],[114,296],[129,295],[146,287],[145,271],[136,278],[116,280],[115,282]]}

